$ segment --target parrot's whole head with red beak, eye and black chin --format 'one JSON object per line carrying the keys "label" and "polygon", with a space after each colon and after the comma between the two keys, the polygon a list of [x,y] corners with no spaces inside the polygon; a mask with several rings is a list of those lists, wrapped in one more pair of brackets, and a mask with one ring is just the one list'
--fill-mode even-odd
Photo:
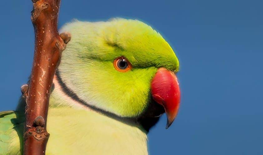
{"label": "parrot's whole head with red beak, eye and black chin", "polygon": [[[179,61],[163,37],[138,20],[66,24],[71,33],[56,75],[63,90],[82,104],[150,126],[166,112],[175,119]],[[152,121],[154,119],[154,121]]]}

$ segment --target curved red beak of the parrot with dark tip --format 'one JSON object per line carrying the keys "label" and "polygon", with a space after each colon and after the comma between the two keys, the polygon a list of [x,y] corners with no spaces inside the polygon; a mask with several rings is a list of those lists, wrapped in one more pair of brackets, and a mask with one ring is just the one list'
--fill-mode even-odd
{"label": "curved red beak of the parrot with dark tip", "polygon": [[159,68],[153,77],[153,100],[164,107],[167,115],[166,129],[173,123],[180,106],[180,88],[177,77],[173,72]]}

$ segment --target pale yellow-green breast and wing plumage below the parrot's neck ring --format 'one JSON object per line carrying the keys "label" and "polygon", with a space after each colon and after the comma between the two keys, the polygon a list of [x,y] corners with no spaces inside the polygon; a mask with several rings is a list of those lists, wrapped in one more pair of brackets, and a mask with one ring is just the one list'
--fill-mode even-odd
{"label": "pale yellow-green breast and wing plumage below the parrot's neck ring", "polygon": [[[51,100],[55,100],[54,97],[52,95]],[[53,102],[50,104],[53,105]],[[140,128],[92,110],[66,106],[70,103],[64,104],[50,106],[48,111],[47,131],[50,138],[47,155],[148,154],[146,133]],[[21,154],[24,117],[17,116],[14,111],[0,114],[0,155]]]}

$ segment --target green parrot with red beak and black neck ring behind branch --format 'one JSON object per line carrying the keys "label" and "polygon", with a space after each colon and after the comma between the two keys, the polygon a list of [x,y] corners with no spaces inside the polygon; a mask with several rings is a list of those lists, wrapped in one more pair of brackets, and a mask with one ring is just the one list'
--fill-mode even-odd
{"label": "green parrot with red beak and black neck ring behind branch", "polygon": [[[147,133],[166,113],[175,119],[179,61],[153,28],[138,20],[74,21],[53,80],[47,155],[147,155]],[[25,102],[0,112],[0,155],[21,155]]]}

